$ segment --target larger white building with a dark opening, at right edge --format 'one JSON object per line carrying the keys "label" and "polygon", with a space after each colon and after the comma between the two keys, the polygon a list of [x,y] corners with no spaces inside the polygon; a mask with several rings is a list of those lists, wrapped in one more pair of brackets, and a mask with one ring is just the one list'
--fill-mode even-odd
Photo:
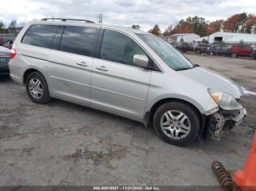
{"label": "larger white building with a dark opening, at right edge", "polygon": [[209,36],[197,38],[195,42],[202,42],[203,39],[208,40],[209,43],[225,42],[227,44],[238,44],[242,40],[245,44],[256,44],[256,34],[216,32]]}

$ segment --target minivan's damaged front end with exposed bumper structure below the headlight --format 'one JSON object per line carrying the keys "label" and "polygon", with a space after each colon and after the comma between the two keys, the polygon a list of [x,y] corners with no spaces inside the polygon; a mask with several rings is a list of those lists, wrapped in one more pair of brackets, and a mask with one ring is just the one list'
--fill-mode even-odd
{"label": "minivan's damaged front end with exposed bumper structure below the headlight", "polygon": [[218,112],[211,114],[208,118],[208,131],[211,133],[211,139],[219,141],[223,130],[230,130],[239,125],[246,116],[246,109],[227,111],[219,109]]}

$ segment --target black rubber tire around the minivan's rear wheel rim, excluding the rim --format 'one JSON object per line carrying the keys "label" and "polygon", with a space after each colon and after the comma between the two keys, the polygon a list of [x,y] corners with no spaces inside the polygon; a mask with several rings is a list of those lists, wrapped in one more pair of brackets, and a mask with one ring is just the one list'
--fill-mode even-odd
{"label": "black rubber tire around the minivan's rear wheel rim, excluding the rim", "polygon": [[[39,98],[34,98],[29,91],[29,82],[31,81],[31,79],[39,79],[39,82],[41,82],[41,87],[43,91],[42,95]],[[47,82],[45,78],[42,76],[42,74],[38,71],[34,71],[31,74],[29,74],[28,77],[26,77],[26,92],[28,93],[31,101],[33,101],[36,104],[46,104],[51,100]]]}

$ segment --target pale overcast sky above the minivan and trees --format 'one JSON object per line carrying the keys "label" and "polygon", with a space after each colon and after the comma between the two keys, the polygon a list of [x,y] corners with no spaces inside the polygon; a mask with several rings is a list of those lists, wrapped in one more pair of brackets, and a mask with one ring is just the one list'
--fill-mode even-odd
{"label": "pale overcast sky above the minivan and trees", "polygon": [[89,19],[121,26],[139,24],[144,31],[159,24],[164,30],[188,16],[206,20],[230,17],[235,13],[256,12],[256,0],[1,0],[0,20],[9,25],[42,17]]}

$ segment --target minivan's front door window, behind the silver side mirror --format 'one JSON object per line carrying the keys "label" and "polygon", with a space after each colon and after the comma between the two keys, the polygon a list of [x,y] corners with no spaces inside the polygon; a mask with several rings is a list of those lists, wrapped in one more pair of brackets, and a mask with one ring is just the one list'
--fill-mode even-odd
{"label": "minivan's front door window, behind the silver side mirror", "polygon": [[105,30],[99,58],[135,66],[133,63],[134,55],[146,55],[146,53],[129,36],[116,31]]}

